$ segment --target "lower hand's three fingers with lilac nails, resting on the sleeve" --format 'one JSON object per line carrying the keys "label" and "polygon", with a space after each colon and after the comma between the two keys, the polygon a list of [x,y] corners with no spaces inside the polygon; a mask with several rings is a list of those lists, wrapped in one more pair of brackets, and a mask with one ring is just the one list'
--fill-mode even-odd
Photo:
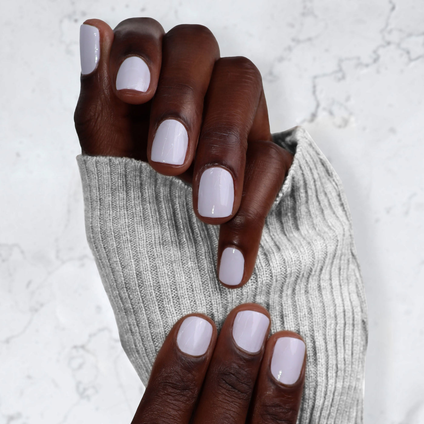
{"label": "lower hand's three fingers with lilac nails, resting on the sleeve", "polygon": [[233,309],[219,336],[205,315],[181,318],[156,357],[132,423],[295,424],[305,344],[288,331],[268,339],[270,325],[257,304]]}

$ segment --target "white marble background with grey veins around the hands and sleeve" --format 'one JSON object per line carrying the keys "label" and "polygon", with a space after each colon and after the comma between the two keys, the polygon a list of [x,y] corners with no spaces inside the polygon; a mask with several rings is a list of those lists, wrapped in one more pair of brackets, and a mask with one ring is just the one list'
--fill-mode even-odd
{"label": "white marble background with grey veins around the hands and sleeve", "polygon": [[78,31],[208,26],[263,75],[271,129],[306,126],[354,221],[370,336],[365,423],[424,423],[424,2],[14,0],[0,6],[0,423],[129,423],[143,387],[87,247]]}

